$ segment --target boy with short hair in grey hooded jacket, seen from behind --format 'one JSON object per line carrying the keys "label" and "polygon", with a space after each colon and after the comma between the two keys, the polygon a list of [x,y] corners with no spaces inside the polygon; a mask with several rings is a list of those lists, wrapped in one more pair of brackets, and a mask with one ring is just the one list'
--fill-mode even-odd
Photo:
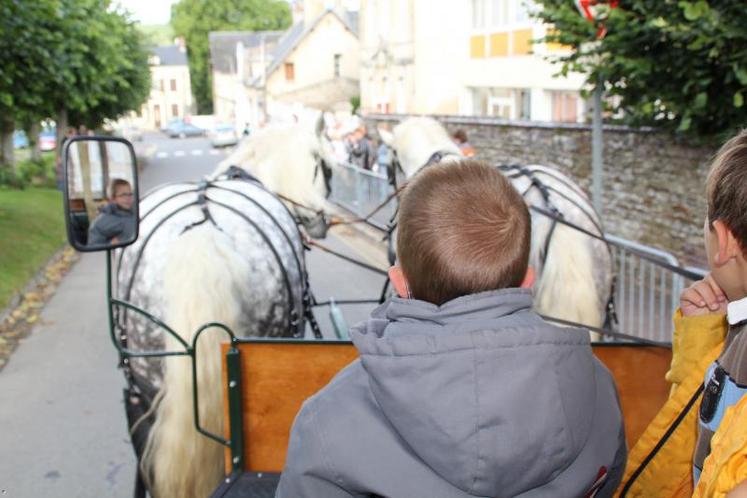
{"label": "boy with short hair in grey hooded jacket, seen from behind", "polygon": [[586,330],[532,310],[530,234],[487,164],[412,179],[400,297],[351,330],[360,359],[304,403],[278,497],[612,495],[626,457],[614,382]]}

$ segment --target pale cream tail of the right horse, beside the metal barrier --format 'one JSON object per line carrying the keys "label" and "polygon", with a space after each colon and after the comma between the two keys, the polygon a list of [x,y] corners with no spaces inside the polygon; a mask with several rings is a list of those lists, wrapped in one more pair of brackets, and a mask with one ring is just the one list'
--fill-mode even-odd
{"label": "pale cream tail of the right horse, beside the metal barrier", "polygon": [[[544,315],[602,326],[593,249],[587,235],[556,225],[535,295],[537,309]],[[592,334],[592,338],[596,336]]]}

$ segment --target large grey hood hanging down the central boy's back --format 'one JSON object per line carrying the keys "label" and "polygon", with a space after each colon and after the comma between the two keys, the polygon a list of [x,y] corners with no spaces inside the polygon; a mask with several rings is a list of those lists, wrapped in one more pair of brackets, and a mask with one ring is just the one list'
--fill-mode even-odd
{"label": "large grey hood hanging down the central boy's back", "polygon": [[442,306],[394,298],[351,330],[394,430],[472,495],[541,488],[591,431],[597,391],[588,332],[549,325],[531,307],[525,289]]}

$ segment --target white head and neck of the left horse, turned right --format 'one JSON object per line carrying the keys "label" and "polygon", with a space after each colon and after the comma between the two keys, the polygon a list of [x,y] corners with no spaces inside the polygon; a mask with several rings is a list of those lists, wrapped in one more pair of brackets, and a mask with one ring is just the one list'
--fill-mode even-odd
{"label": "white head and neck of the left horse, turned right", "polygon": [[324,213],[336,161],[326,136],[323,114],[308,123],[268,127],[242,140],[212,177],[238,166],[288,205],[310,236],[323,238],[329,228]]}

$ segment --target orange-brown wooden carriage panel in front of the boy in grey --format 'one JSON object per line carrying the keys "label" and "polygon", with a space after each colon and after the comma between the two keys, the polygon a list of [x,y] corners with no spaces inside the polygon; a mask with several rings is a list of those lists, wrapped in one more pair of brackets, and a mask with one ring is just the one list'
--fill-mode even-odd
{"label": "orange-brown wooden carriage panel in front of the boy in grey", "polygon": [[[242,342],[237,348],[241,363],[244,469],[280,472],[291,425],[304,400],[355,360],[358,352],[351,343],[337,341],[254,340]],[[227,349],[225,344],[224,358]],[[632,447],[669,395],[664,374],[669,369],[671,350],[628,344],[596,344],[593,350],[615,378],[628,447]],[[225,407],[227,396],[226,391]],[[345,416],[344,412],[345,407],[341,406],[340,416]],[[227,409],[225,413],[228,428]],[[228,432],[226,429],[230,439]],[[229,449],[226,469],[231,469]]]}

